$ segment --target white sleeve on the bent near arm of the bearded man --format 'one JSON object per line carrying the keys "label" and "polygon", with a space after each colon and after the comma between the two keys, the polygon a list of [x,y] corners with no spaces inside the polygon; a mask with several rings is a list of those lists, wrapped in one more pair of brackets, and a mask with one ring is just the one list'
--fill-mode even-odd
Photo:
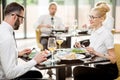
{"label": "white sleeve on the bent near arm of the bearded man", "polygon": [[18,65],[18,53],[16,51],[16,45],[14,44],[14,40],[10,37],[7,37],[6,40],[3,40],[0,51],[2,69],[6,78],[8,79],[13,79],[23,75],[37,64],[35,60],[31,60],[25,64]]}

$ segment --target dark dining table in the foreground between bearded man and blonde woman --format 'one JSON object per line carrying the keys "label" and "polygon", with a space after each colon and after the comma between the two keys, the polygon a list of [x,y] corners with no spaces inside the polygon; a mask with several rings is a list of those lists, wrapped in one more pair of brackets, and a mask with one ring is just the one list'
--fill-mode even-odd
{"label": "dark dining table in the foreground between bearded man and blonde woman", "polygon": [[[54,53],[54,64],[51,64],[50,59],[47,61],[37,64],[35,67],[40,70],[46,69],[56,69],[56,80],[66,80],[66,67],[72,66],[89,66],[89,64],[96,64],[96,63],[109,63],[109,60],[102,59],[102,60],[92,60],[92,56],[87,52],[81,52],[84,49],[76,49],[76,48],[64,48],[64,49],[57,49]],[[74,53],[77,51],[77,53]],[[80,52],[78,52],[80,51]],[[65,59],[61,56],[66,56],[68,54],[75,54],[75,59]],[[84,55],[84,56],[82,56]],[[82,56],[82,57],[81,57]],[[29,61],[29,57],[21,57],[24,61]]]}

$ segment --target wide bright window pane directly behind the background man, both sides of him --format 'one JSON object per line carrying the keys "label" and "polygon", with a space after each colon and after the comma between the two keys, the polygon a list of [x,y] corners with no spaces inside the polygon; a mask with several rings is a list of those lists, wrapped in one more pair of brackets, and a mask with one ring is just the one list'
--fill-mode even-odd
{"label": "wide bright window pane directly behind the background man, both sides of him", "polygon": [[[49,14],[49,3],[53,0],[37,0],[36,4],[27,4],[27,37],[35,37],[35,22],[41,15]],[[65,26],[70,26],[75,18],[74,0],[54,0],[58,4],[56,16],[60,17]]]}

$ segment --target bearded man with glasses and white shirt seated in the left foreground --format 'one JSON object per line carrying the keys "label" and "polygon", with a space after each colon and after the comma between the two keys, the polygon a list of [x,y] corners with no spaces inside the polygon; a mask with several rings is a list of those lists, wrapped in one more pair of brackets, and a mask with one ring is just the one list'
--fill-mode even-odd
{"label": "bearded man with glasses and white shirt seated in the left foreground", "polygon": [[[42,78],[39,71],[30,69],[47,58],[43,54],[36,55],[25,64],[18,64],[18,57],[31,53],[31,49],[17,50],[14,30],[18,30],[24,19],[24,8],[16,2],[5,8],[5,18],[0,25],[0,80],[21,80],[21,78]],[[45,52],[43,52],[45,53]]]}

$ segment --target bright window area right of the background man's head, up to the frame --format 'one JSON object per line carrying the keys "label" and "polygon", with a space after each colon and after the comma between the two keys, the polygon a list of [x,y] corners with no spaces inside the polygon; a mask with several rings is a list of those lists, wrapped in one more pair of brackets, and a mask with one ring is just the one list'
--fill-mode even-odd
{"label": "bright window area right of the background man's head, up to the frame", "polygon": [[76,0],[54,0],[58,4],[56,15],[62,18],[66,27],[72,27],[75,20],[75,1]]}

